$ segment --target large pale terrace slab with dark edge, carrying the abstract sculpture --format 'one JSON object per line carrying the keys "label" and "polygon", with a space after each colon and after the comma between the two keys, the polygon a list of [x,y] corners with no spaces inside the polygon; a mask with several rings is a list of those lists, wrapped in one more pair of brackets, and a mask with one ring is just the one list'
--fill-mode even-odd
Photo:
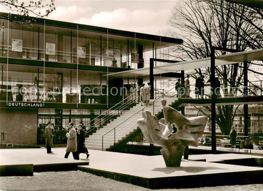
{"label": "large pale terrace slab with dark edge, carrying the abstract sculpture", "polygon": [[[196,188],[263,182],[262,167],[198,161],[213,158],[217,161],[224,161],[227,155],[233,159],[232,154],[222,154],[218,157],[217,155],[189,156],[189,160],[182,159],[180,167],[166,167],[162,156],[95,150],[91,150],[90,153],[90,165],[80,165],[79,170],[150,189]],[[239,155],[235,157],[240,158]],[[251,156],[245,155],[242,158],[247,159]],[[257,158],[262,157],[257,156]]]}

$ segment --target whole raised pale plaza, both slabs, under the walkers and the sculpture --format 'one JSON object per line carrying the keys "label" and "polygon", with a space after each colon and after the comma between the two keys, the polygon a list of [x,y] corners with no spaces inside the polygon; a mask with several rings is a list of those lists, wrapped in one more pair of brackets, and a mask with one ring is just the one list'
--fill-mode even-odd
{"label": "whole raised pale plaza, both slabs, under the walkers and the sculpture", "polygon": [[[20,171],[81,170],[150,189],[185,188],[263,182],[263,155],[218,154],[190,155],[182,159],[180,167],[166,167],[162,156],[143,156],[89,150],[90,157],[80,154],[80,159],[64,159],[65,148],[1,149],[0,169],[11,168],[11,174]],[[259,166],[226,164],[227,160],[257,161]],[[25,168],[27,165],[32,165]],[[16,167],[16,168],[14,168]],[[30,175],[30,173],[28,174]],[[189,181],[191,184],[189,185]],[[245,181],[245,182],[244,182]]]}

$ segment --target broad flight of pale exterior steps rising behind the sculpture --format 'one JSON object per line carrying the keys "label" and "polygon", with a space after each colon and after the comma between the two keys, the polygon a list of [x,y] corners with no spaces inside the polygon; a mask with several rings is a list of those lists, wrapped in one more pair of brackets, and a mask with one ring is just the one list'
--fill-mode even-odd
{"label": "broad flight of pale exterior steps rising behind the sculpture", "polygon": [[[85,145],[88,149],[106,151],[106,149],[127,138],[137,129],[137,120],[143,117],[143,111],[149,110],[153,115],[161,112],[161,99],[162,97],[155,99],[154,102],[150,100],[151,104],[148,106],[141,106],[141,103],[138,103],[130,110],[122,110],[119,117],[103,128],[98,129],[92,135],[89,135],[85,140]],[[165,99],[167,100],[167,105],[172,104],[176,100],[175,97],[166,97]]]}

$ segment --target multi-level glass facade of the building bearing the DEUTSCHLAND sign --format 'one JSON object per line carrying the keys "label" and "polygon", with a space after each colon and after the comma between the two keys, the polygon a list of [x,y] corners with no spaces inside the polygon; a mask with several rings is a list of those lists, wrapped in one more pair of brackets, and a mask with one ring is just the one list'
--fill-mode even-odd
{"label": "multi-level glass facade of the building bearing the DEUTSCHLAND sign", "polygon": [[100,128],[100,119],[90,122],[108,104],[129,95],[129,82],[137,83],[136,78],[109,79],[107,74],[138,68],[139,63],[143,67],[145,51],[151,57],[151,51],[161,46],[160,37],[147,41],[135,33],[125,37],[110,29],[96,31],[96,27],[81,25],[79,30],[77,24],[48,22],[22,27],[0,19],[0,103],[18,108],[37,103],[38,144],[44,144],[49,121],[55,128],[54,143],[65,143],[69,122]]}

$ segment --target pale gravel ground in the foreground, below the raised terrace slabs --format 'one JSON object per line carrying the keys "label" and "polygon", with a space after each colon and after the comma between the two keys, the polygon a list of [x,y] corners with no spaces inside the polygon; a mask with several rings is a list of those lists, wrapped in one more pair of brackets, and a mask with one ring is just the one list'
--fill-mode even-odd
{"label": "pale gravel ground in the foreground, below the raised terrace slabs", "polygon": [[[34,176],[0,177],[1,191],[150,191],[82,171],[40,172]],[[262,191],[263,184],[167,189],[156,191]]]}

